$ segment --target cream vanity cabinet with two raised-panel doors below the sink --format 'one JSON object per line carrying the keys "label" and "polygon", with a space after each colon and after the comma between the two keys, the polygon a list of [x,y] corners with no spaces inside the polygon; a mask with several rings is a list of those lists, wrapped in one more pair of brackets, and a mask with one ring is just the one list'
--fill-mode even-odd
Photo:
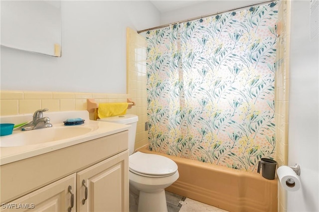
{"label": "cream vanity cabinet with two raised-panel doors below the sink", "polygon": [[124,131],[2,165],[0,211],[129,211],[128,159]]}

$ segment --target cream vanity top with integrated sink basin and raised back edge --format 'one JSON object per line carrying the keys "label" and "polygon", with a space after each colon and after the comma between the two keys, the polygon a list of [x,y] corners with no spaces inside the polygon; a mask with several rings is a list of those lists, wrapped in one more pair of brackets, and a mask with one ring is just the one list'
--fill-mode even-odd
{"label": "cream vanity top with integrated sink basin and raised back edge", "polygon": [[[0,123],[24,123],[33,113],[0,116]],[[43,112],[53,125],[29,131],[13,130],[11,135],[0,136],[0,165],[67,148],[94,139],[128,130],[127,124],[90,120],[87,110]],[[65,126],[68,118],[86,120],[80,125]]]}

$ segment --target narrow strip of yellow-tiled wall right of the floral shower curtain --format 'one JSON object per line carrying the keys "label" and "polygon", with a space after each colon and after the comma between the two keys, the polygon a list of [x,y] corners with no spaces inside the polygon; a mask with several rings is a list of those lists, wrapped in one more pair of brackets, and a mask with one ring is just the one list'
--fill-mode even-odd
{"label": "narrow strip of yellow-tiled wall right of the floral shower curtain", "polygon": [[[276,161],[288,165],[290,0],[281,0],[278,12],[275,75]],[[287,191],[278,185],[278,211],[287,212]]]}

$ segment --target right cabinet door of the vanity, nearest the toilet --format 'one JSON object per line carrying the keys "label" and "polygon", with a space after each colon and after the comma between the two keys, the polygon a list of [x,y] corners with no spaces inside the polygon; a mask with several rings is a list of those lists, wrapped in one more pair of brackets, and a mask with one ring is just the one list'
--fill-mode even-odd
{"label": "right cabinet door of the vanity, nearest the toilet", "polygon": [[77,211],[128,212],[128,161],[129,152],[126,150],[78,172]]}

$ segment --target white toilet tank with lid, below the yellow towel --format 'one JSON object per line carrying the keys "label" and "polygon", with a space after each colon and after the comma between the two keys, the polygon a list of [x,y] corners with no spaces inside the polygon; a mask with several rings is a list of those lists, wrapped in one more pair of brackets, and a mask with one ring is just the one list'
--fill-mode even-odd
{"label": "white toilet tank with lid, below the yellow towel", "polygon": [[139,116],[134,114],[117,115],[106,118],[98,118],[97,121],[106,121],[112,123],[129,124],[131,128],[129,129],[129,152],[130,155],[134,152],[135,136],[136,136],[136,126],[139,120]]}

